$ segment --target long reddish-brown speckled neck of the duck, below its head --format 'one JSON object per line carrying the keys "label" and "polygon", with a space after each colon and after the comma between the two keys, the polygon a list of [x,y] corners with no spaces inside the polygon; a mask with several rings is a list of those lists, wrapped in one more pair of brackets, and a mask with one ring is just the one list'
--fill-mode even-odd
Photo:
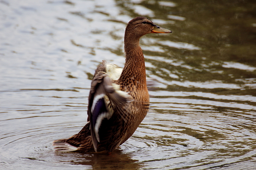
{"label": "long reddish-brown speckled neck of the duck, below its head", "polygon": [[[125,35],[124,51],[126,59],[124,69],[119,81],[129,91],[129,87],[146,88],[146,69],[142,49],[139,45],[140,39],[130,38]],[[134,88],[134,87],[132,87]]]}

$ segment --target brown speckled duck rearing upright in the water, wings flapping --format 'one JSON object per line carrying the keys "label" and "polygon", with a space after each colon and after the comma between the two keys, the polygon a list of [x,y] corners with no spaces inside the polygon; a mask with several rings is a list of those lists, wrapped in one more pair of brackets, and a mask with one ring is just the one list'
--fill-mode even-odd
{"label": "brown speckled duck rearing upright in the water, wings flapping", "polygon": [[88,123],[67,139],[53,141],[56,151],[111,153],[136,131],[150,105],[146,68],[140,38],[172,31],[138,16],[128,22],[124,34],[123,69],[102,61],[96,68],[88,97]]}

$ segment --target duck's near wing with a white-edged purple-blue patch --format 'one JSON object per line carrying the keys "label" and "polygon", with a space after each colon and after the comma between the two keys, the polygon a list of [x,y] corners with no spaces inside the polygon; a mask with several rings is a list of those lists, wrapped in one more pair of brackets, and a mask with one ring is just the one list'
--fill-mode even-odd
{"label": "duck's near wing with a white-edged purple-blue patch", "polygon": [[[99,67],[102,67],[100,65]],[[118,110],[120,117],[126,121],[128,112],[126,105],[130,102],[130,95],[120,91],[119,85],[112,83],[108,74],[99,69],[92,80],[88,103],[88,120],[94,150],[97,152],[97,144],[100,142],[99,128],[103,119],[110,119],[115,110]]]}

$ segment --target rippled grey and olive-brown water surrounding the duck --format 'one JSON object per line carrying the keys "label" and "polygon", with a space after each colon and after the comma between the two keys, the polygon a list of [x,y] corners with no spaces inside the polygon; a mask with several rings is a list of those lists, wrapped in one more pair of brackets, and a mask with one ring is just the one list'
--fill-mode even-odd
{"label": "rippled grey and olive-brown water surrounding the duck", "polygon": [[[256,167],[256,3],[1,0],[0,168],[252,170]],[[54,152],[85,125],[90,79],[123,67],[127,22],[141,39],[150,111],[111,155]]]}

